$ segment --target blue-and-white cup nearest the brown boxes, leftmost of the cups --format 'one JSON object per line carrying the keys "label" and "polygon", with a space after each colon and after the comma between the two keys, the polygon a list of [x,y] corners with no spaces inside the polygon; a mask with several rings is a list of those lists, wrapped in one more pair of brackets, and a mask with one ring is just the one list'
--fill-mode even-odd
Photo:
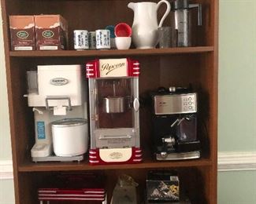
{"label": "blue-and-white cup nearest the brown boxes, leftmost of the cups", "polygon": [[89,49],[89,36],[87,30],[74,31],[74,49]]}

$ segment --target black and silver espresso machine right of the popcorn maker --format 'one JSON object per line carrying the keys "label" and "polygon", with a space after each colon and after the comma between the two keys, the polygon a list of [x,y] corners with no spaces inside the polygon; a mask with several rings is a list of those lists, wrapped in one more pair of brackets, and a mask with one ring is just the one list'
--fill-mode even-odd
{"label": "black and silver espresso machine right of the popcorn maker", "polygon": [[197,139],[197,93],[191,88],[163,87],[151,94],[154,154],[157,160],[200,158]]}

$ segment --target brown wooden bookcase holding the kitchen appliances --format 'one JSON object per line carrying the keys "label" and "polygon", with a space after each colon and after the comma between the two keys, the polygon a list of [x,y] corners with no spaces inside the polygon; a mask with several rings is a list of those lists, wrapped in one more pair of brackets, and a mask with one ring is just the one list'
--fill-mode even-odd
{"label": "brown wooden bookcase holding the kitchen appliances", "polygon": [[[9,120],[13,153],[13,176],[17,204],[39,203],[37,188],[54,179],[58,173],[102,172],[106,175],[108,197],[120,173],[128,173],[145,188],[149,169],[177,169],[182,187],[192,203],[217,203],[217,70],[218,70],[218,0],[202,3],[202,27],[195,32],[195,45],[186,48],[128,50],[63,50],[10,51],[9,15],[54,13],[69,22],[69,48],[72,31],[95,31],[109,24],[126,22],[132,25],[133,13],[128,0],[1,0],[3,35],[6,54],[6,78],[9,99]],[[135,1],[139,2],[139,1]],[[157,1],[152,1],[157,2]],[[166,20],[166,25],[169,22]],[[202,140],[202,158],[187,161],[157,162],[150,154],[143,163],[134,165],[90,166],[87,155],[82,162],[32,162],[30,150],[35,143],[32,108],[28,107],[26,71],[38,64],[85,64],[95,58],[131,56],[139,60],[141,75],[139,93],[145,94],[158,86],[187,86],[191,83],[200,98],[198,118],[205,123],[207,134]],[[3,68],[3,67],[2,67]],[[143,151],[150,151],[149,110],[140,110],[140,131]],[[113,184],[112,184],[113,183]]]}

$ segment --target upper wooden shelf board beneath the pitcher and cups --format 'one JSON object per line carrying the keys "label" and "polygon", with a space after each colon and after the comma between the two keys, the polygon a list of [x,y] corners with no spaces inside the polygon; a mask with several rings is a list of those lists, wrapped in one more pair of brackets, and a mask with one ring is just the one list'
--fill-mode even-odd
{"label": "upper wooden shelf board beneath the pitcher and cups", "polygon": [[176,47],[166,49],[109,49],[109,50],[47,50],[47,51],[10,51],[9,56],[15,57],[49,57],[49,56],[150,56],[181,53],[213,52],[213,46]]}

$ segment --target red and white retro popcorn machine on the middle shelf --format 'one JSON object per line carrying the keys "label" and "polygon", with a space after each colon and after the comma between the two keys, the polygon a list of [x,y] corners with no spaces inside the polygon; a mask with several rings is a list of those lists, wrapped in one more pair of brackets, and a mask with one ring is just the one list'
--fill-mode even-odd
{"label": "red and white retro popcorn machine on the middle shelf", "polygon": [[139,62],[129,58],[86,64],[91,165],[142,162],[139,144]]}

